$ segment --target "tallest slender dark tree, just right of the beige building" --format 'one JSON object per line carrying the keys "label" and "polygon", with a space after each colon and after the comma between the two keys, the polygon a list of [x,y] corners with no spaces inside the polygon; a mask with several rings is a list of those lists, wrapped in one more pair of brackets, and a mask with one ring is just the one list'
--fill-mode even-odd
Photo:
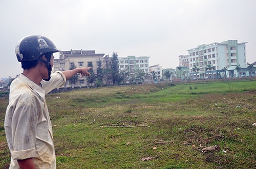
{"label": "tallest slender dark tree, just right of the beige building", "polygon": [[111,68],[111,76],[113,85],[116,85],[119,78],[119,66],[118,66],[118,54],[117,52],[113,52],[111,62],[110,62],[110,68]]}

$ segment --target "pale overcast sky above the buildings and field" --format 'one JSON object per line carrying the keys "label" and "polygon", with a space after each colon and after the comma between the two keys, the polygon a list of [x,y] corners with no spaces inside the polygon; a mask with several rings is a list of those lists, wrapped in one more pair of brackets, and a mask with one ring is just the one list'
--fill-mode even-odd
{"label": "pale overcast sky above the buildings and field", "polygon": [[198,45],[238,40],[256,61],[254,0],[0,0],[0,23],[0,78],[22,72],[14,48],[27,35],[60,50],[147,56],[162,68]]}

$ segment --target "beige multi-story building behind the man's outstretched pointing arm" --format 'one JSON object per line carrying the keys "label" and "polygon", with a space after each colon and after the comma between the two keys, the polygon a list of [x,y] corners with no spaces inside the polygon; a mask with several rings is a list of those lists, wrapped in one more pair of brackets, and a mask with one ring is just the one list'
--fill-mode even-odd
{"label": "beige multi-story building behind the man's outstretched pointing arm", "polygon": [[[108,62],[107,56],[104,57],[104,53],[95,53],[95,50],[70,50],[60,51],[59,59],[53,60],[54,71],[70,70],[71,67],[92,67],[94,73],[97,71],[99,62],[102,67]],[[86,77],[79,76],[79,85],[81,87],[86,86]],[[66,87],[71,87],[69,81],[66,82]]]}

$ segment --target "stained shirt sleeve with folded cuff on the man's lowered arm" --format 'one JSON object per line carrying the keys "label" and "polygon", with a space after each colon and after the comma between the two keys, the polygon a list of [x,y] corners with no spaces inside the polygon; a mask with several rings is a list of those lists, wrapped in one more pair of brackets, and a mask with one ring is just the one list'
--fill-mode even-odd
{"label": "stained shirt sleeve with folded cuff on the man's lowered arm", "polygon": [[29,93],[18,98],[12,117],[13,159],[35,157],[36,124],[38,112]]}

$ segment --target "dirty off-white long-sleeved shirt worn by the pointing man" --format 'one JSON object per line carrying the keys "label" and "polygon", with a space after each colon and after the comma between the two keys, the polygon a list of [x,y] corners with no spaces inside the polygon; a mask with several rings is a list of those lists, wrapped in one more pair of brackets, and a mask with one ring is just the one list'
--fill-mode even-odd
{"label": "dirty off-white long-sleeved shirt worn by the pointing man", "polygon": [[17,159],[33,158],[36,168],[56,168],[52,124],[45,94],[66,82],[62,72],[51,75],[41,86],[25,75],[10,86],[9,105],[5,116],[5,132],[11,152],[10,168],[19,168]]}

